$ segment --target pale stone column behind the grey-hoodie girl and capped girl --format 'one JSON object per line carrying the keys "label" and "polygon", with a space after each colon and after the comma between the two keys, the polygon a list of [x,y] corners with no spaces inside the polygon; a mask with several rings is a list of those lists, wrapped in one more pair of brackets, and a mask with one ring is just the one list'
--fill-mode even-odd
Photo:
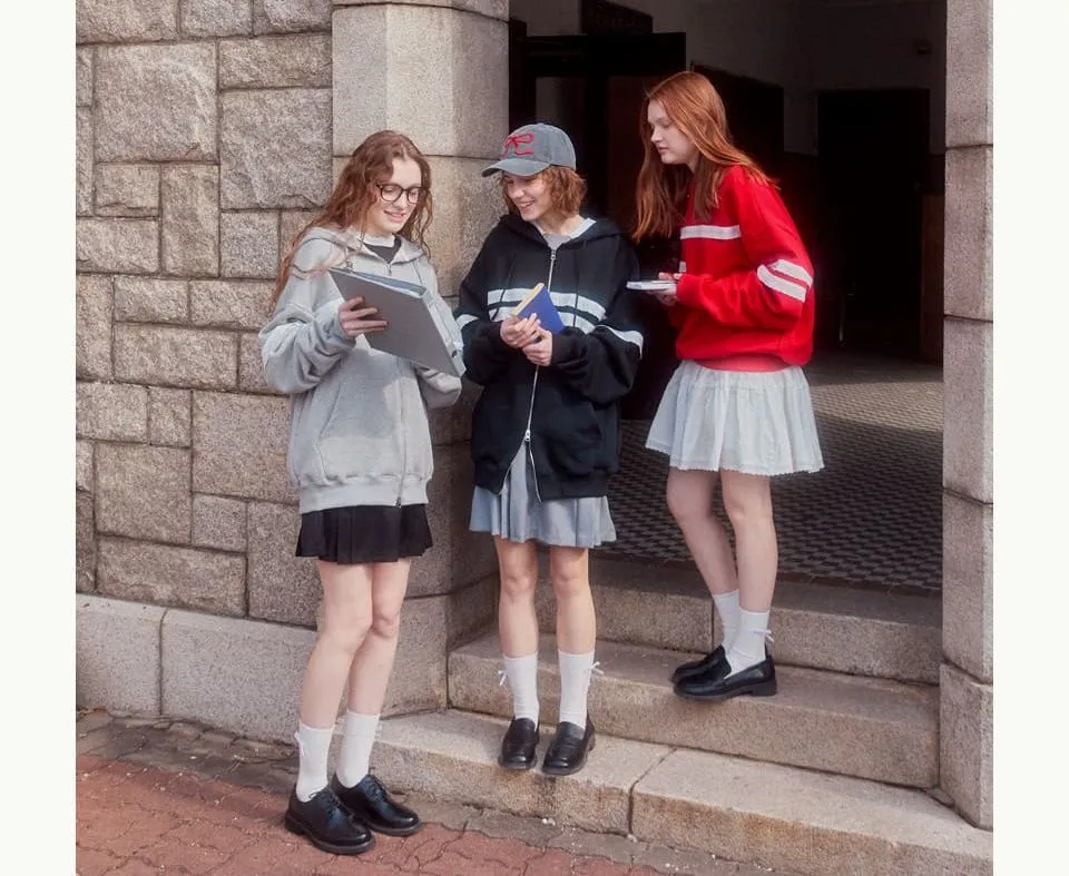
{"label": "pale stone column behind the grey-hoodie girl and capped girl", "polygon": [[[431,258],[452,305],[461,277],[501,211],[479,171],[508,134],[508,0],[335,0],[335,171],[370,134],[411,137],[431,164]],[[496,564],[468,532],[473,387],[435,412],[429,514],[434,547],[413,565],[388,713],[445,703],[448,648],[491,621]]]}

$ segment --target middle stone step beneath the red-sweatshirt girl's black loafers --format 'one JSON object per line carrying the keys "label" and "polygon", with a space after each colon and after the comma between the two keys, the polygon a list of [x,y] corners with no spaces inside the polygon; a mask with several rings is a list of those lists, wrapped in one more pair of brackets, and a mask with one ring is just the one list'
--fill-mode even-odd
{"label": "middle stone step beneath the red-sweatshirt girl's black loafers", "polygon": [[[828,772],[930,788],[938,777],[938,688],[796,667],[776,668],[774,697],[692,702],[668,678],[685,657],[644,646],[598,642],[604,675],[590,686],[590,717],[611,736],[741,755]],[[511,695],[499,685],[496,633],[449,657],[449,705],[510,716]],[[539,644],[542,720],[557,721],[557,643]]]}

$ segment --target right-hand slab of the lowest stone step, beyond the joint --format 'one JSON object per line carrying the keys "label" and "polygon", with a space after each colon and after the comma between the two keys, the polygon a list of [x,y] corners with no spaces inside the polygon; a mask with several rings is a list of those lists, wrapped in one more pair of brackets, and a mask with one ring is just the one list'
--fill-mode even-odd
{"label": "right-hand slab of the lowest stone step, beyond the joint", "polygon": [[991,834],[926,794],[676,750],[635,786],[636,838],[821,876],[977,876]]}

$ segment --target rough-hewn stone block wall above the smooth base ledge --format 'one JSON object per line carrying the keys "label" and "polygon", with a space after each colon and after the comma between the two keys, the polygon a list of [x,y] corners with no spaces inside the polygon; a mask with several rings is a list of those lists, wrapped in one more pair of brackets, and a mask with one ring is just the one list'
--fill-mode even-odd
{"label": "rough-hewn stone block wall above the smooth base ledge", "polygon": [[330,0],[78,2],[79,590],[263,613],[295,496],[256,332],[330,193]]}

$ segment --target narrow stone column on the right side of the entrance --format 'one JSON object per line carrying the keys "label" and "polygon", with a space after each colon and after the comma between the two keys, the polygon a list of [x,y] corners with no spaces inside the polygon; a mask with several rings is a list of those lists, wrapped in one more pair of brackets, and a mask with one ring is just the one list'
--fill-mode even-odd
{"label": "narrow stone column on the right side of the entrance", "polygon": [[947,3],[940,785],[992,826],[991,0]]}

